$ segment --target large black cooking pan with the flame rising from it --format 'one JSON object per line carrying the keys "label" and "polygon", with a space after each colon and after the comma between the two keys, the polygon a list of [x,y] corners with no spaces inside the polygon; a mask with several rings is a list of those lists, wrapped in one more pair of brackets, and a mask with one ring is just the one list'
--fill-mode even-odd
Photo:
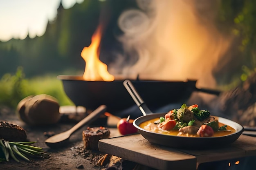
{"label": "large black cooking pan with the flame rising from it", "polygon": [[[108,112],[114,113],[134,106],[134,101],[124,88],[124,80],[113,82],[85,81],[82,76],[59,75],[66,95],[76,106],[95,110],[100,105],[108,106]],[[196,88],[196,80],[153,81],[130,80],[141,97],[153,108],[170,103],[186,102],[193,91],[218,95],[219,91]]]}

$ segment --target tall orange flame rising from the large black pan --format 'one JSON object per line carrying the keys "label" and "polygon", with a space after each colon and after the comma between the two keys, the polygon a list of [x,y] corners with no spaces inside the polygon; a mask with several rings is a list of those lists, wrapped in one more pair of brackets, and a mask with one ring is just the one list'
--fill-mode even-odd
{"label": "tall orange flame rising from the large black pan", "polygon": [[92,35],[90,46],[84,47],[81,52],[86,66],[83,73],[83,79],[88,81],[114,81],[115,77],[108,73],[108,66],[99,60],[99,45],[101,42],[102,27],[98,26]]}

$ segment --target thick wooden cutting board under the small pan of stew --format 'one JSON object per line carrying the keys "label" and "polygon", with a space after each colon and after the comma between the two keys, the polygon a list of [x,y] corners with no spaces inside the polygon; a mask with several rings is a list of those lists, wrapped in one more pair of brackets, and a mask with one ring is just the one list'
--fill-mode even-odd
{"label": "thick wooden cutting board under the small pan of stew", "polygon": [[150,143],[140,134],[101,139],[101,152],[142,165],[167,170],[196,170],[203,162],[222,161],[256,155],[256,137],[241,135],[234,143],[220,149],[178,150]]}

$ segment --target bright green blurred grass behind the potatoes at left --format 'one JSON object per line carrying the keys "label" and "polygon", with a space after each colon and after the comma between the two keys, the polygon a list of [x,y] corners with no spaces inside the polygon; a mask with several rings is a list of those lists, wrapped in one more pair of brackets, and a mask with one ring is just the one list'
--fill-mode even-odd
{"label": "bright green blurred grass behind the potatoes at left", "polygon": [[0,79],[0,105],[16,108],[23,98],[29,95],[47,94],[55,97],[60,106],[74,105],[64,92],[61,80],[55,75],[25,79],[22,68],[16,75],[5,74]]}

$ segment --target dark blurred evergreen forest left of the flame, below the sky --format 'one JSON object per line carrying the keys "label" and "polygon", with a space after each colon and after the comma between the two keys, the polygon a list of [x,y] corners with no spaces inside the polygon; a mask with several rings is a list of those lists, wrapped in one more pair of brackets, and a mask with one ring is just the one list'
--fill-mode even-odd
{"label": "dark blurred evergreen forest left of the flame, below the sky", "polygon": [[48,23],[41,37],[0,42],[0,77],[24,68],[27,77],[66,69],[84,69],[80,53],[90,38],[100,13],[97,0],[86,0],[70,9],[58,9],[56,21]]}

